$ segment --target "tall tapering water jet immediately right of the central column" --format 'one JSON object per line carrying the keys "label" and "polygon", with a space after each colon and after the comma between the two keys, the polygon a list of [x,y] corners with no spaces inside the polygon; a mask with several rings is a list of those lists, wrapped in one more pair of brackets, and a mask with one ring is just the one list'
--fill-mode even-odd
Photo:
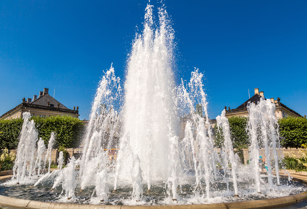
{"label": "tall tapering water jet immediately right of the central column", "polygon": [[[201,187],[201,180],[205,181],[206,197],[210,198],[210,182],[212,175],[216,179],[216,161],[218,155],[213,149],[212,130],[209,123],[207,111],[206,94],[202,83],[203,74],[195,69],[191,73],[191,79],[187,87],[181,83],[179,87],[179,102],[186,115],[186,127],[184,140],[181,142],[183,148],[192,149],[193,168],[185,166],[186,170],[193,169],[196,176],[195,189]],[[188,88],[188,89],[187,89]],[[197,109],[195,108],[197,105]],[[205,113],[203,115],[203,112]],[[196,133],[196,134],[195,134]],[[184,152],[181,152],[184,154]]]}

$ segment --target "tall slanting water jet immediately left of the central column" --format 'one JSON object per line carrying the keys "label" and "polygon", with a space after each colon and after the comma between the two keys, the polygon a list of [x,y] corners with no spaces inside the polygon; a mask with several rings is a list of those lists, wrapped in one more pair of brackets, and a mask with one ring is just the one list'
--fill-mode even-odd
{"label": "tall slanting water jet immediately left of the central column", "polygon": [[[79,176],[81,190],[94,184],[91,176],[96,175],[97,157],[104,156],[104,150],[116,146],[120,134],[120,115],[115,110],[115,102],[120,101],[120,79],[115,76],[114,68],[104,73],[99,82],[93,102],[89,125],[87,125]],[[113,143],[113,144],[112,144]],[[107,157],[107,156],[106,156]]]}

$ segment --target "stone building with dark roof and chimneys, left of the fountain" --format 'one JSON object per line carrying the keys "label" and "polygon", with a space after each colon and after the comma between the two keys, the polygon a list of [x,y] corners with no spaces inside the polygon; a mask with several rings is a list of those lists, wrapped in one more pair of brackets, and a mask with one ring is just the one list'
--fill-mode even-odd
{"label": "stone building with dark roof and chimneys, left of the fountain", "polygon": [[39,91],[39,96],[33,96],[31,98],[23,99],[23,102],[13,109],[4,113],[0,120],[17,119],[21,118],[24,112],[30,112],[33,116],[49,117],[55,115],[69,115],[73,118],[79,117],[78,107],[69,109],[54,99],[48,94],[48,88],[44,88],[43,91]]}

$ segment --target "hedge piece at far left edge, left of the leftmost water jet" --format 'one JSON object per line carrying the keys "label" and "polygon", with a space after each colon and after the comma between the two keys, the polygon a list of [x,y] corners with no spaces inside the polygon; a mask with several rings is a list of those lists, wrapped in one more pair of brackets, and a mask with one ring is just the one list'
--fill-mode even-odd
{"label": "hedge piece at far left edge, left of the leftmost water jet", "polygon": [[23,119],[0,120],[0,149],[16,149]]}

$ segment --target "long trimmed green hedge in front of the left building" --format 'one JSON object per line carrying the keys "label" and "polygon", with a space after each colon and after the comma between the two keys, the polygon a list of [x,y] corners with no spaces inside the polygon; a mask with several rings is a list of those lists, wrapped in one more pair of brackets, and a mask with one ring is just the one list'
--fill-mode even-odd
{"label": "long trimmed green hedge in front of the left building", "polygon": [[[32,117],[38,138],[41,137],[48,144],[51,132],[56,134],[56,147],[76,148],[79,145],[84,123],[77,118],[67,115],[57,115],[46,118]],[[0,149],[16,149],[23,119],[0,120]]]}

